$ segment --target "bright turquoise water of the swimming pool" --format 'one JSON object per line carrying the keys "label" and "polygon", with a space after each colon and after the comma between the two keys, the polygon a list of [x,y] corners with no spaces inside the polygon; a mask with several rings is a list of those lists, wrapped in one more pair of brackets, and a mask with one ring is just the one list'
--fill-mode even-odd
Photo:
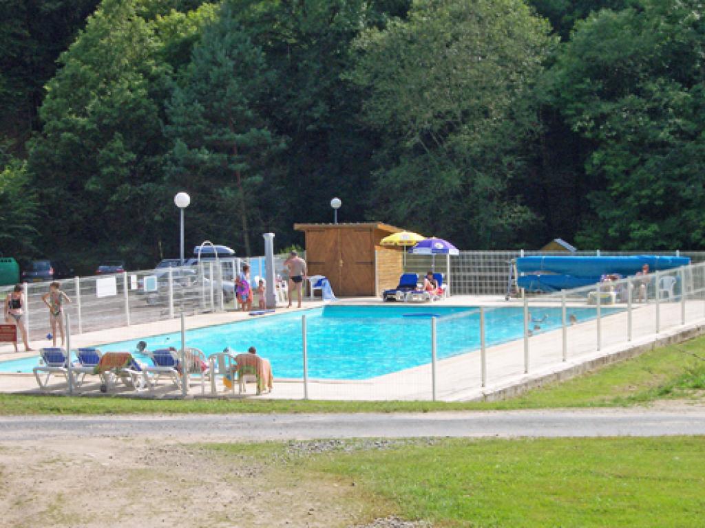
{"label": "bright turquoise water of the swimming pool", "polygon": [[[603,308],[608,315],[617,308]],[[436,318],[436,353],[439,359],[479,349],[479,310],[472,307],[436,306],[326,306],[307,315],[308,372],[310,378],[366,379],[423,365],[431,360],[431,320]],[[594,308],[570,308],[579,321],[595,317]],[[270,360],[275,377],[303,375],[301,314],[188,330],[187,346],[206,355],[226,346],[243,352],[256,346]],[[532,308],[536,332],[560,327],[560,308]],[[524,332],[522,308],[486,310],[488,346],[520,339]],[[180,346],[180,333],[162,334],[101,345],[102,351],[134,351],[137,341],[154,350]],[[140,356],[137,356],[138,358]],[[145,361],[147,358],[143,358]],[[0,372],[31,372],[37,358],[4,361]]]}

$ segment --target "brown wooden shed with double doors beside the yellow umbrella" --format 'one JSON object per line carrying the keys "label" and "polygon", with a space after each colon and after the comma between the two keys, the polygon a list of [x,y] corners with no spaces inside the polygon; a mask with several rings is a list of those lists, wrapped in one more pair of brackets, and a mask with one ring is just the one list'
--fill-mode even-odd
{"label": "brown wooden shed with double doors beside the yellow umbrella", "polygon": [[402,273],[402,251],[380,246],[399,227],[383,222],[294,224],[306,237],[308,275],[325,275],[343,297],[378,296],[395,287]]}

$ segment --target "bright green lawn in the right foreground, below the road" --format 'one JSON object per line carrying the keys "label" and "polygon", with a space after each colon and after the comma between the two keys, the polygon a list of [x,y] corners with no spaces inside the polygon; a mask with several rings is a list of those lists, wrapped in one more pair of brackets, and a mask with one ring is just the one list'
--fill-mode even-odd
{"label": "bright green lawn in the right foreground, below the road", "polygon": [[434,527],[703,526],[702,437],[415,440],[373,449],[351,441],[305,464],[282,456],[281,444],[260,448],[275,471],[332,477],[348,489],[355,482],[380,515],[391,510]]}

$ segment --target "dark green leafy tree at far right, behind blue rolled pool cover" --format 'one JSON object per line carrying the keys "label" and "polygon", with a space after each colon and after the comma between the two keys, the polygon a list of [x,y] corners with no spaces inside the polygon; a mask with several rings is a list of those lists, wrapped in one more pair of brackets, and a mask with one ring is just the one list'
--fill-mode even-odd
{"label": "dark green leafy tree at far right, behind blue rolled pool cover", "polygon": [[696,0],[645,0],[578,25],[550,73],[554,103],[591,145],[579,242],[691,249],[705,242],[705,25]]}

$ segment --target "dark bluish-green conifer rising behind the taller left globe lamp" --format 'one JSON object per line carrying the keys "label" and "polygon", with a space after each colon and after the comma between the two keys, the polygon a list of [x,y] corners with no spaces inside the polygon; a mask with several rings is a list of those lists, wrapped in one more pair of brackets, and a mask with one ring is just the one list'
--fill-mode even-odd
{"label": "dark bluish-green conifer rising behind the taller left globe lamp", "polygon": [[[174,140],[168,182],[207,204],[191,214],[192,232],[203,239],[240,239],[248,256],[253,232],[268,224],[262,203],[276,194],[272,174],[283,146],[260,111],[270,86],[262,49],[224,4],[193,49],[168,106]],[[231,218],[238,219],[237,228]]]}

